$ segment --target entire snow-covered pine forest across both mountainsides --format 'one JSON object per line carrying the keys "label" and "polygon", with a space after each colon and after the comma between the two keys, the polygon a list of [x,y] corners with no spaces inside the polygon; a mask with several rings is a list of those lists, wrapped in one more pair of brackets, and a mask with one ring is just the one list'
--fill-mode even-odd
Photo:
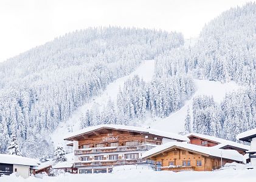
{"label": "entire snow-covered pine forest across both mountainsides", "polygon": [[210,96],[194,98],[184,126],[185,132],[235,141],[237,133],[256,127],[255,19],[255,3],[232,8],[210,21],[193,47],[182,46],[184,38],[175,32],[80,30],[1,63],[0,152],[15,135],[24,155],[53,153],[49,133],[58,123],[147,59],[156,61],[153,80],[129,79],[117,101],[109,99],[100,112],[84,111],[81,128],[164,118],[193,95],[193,78],[235,81],[243,89],[227,93],[220,104]]}

